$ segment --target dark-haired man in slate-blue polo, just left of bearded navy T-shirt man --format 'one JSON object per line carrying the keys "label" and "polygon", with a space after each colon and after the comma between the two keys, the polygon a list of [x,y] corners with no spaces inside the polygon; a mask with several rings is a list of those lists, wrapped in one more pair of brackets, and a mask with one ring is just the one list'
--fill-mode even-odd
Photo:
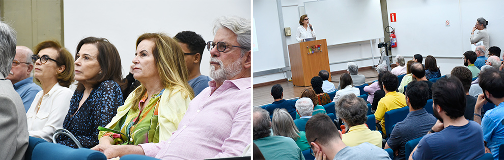
{"label": "dark-haired man in slate-blue polo, just left of bearded navy T-shirt man", "polygon": [[408,84],[406,104],[409,106],[409,113],[403,121],[396,124],[385,144],[385,149],[394,150],[394,159],[404,159],[406,143],[424,136],[436,123],[436,117],[427,113],[424,108],[429,92],[430,89],[426,83],[412,81]]}

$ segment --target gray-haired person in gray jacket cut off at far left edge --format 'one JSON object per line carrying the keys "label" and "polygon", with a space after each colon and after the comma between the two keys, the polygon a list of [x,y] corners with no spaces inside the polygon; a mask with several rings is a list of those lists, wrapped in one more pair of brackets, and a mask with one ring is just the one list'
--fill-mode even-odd
{"label": "gray-haired person in gray jacket cut off at far left edge", "polygon": [[[29,133],[26,130],[26,112],[23,101],[6,79],[16,55],[16,31],[0,21],[0,98],[2,121],[0,121],[0,155],[3,159],[22,160],[28,148]],[[28,157],[27,157],[28,158]]]}

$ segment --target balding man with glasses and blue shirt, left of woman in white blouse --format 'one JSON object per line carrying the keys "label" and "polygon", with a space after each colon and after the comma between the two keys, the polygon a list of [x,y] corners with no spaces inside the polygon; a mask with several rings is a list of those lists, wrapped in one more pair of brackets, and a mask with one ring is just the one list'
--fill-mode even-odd
{"label": "balding man with glasses and blue shirt, left of woman in white blouse", "polygon": [[23,100],[24,111],[28,111],[32,105],[35,95],[42,90],[37,84],[33,83],[33,77],[30,73],[33,70],[32,61],[33,52],[25,46],[16,47],[16,56],[12,61],[12,68],[6,79],[11,80],[14,89]]}

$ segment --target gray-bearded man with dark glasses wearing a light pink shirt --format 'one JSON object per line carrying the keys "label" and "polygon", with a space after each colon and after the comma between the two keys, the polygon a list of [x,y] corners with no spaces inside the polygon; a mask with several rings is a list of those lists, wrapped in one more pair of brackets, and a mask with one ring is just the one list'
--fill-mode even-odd
{"label": "gray-bearded man with dark glasses wearing a light pink shirt", "polygon": [[189,103],[177,131],[159,143],[96,147],[107,158],[144,154],[159,159],[239,156],[250,139],[250,20],[220,17],[210,51],[210,81]]}

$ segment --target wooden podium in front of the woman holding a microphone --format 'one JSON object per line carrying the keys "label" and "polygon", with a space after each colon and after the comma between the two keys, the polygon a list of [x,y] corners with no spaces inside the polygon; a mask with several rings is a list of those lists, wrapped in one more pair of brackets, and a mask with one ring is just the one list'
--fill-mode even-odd
{"label": "wooden podium in front of the woman holding a microphone", "polygon": [[331,81],[325,39],[291,44],[288,47],[294,86],[312,86],[310,81],[314,76],[318,76],[322,69],[329,72],[329,81]]}

